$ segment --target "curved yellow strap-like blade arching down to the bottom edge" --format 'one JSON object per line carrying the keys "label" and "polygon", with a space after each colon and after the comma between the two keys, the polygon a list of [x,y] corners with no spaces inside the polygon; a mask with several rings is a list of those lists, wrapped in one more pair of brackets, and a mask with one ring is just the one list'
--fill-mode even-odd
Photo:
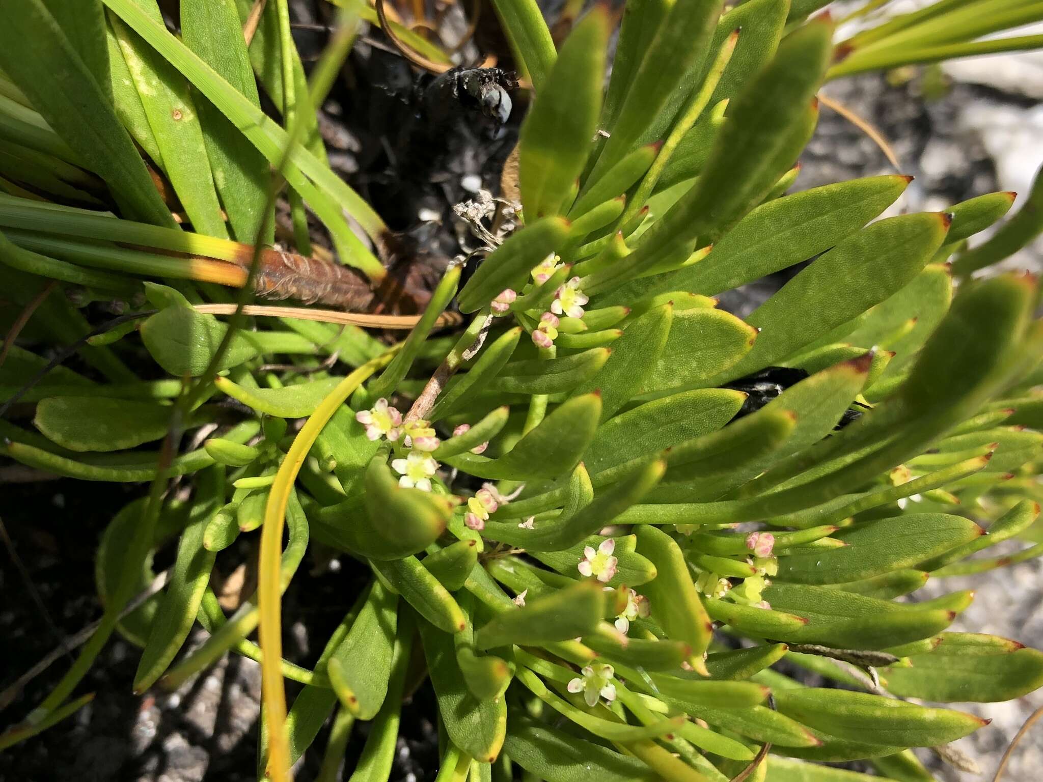
{"label": "curved yellow strap-like blade arching down to the bottom edge", "polygon": [[293,444],[286,458],[283,459],[268,494],[258,565],[258,609],[260,611],[258,637],[263,653],[261,659],[262,703],[268,727],[268,776],[272,782],[290,782],[290,747],[286,735],[286,689],[280,669],[280,663],[283,659],[280,600],[284,585],[281,583],[278,563],[290,490],[293,488],[297,473],[322,427],[347,397],[373,372],[388,364],[397,350],[398,346],[395,346],[383,356],[366,362],[344,377],[337,388],[322,400],[293,439]]}

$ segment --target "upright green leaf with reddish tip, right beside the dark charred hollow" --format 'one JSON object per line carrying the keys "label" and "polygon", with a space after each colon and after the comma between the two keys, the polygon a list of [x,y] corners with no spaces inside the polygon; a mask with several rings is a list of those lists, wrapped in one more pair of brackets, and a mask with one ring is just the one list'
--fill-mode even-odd
{"label": "upright green leaf with reddish tip, right beside the dark charred hollow", "polygon": [[608,14],[595,6],[576,25],[522,125],[518,173],[529,222],[567,211],[601,112]]}

